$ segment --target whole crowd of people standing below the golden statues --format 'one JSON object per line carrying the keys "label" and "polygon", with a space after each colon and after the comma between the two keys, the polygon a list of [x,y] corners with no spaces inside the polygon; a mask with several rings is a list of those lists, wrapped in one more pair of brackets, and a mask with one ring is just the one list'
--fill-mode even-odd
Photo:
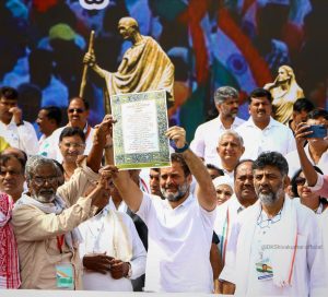
{"label": "whole crowd of people standing below the golden statues", "polygon": [[285,124],[270,91],[215,91],[219,116],[192,142],[171,127],[172,166],[118,170],[113,126],[72,97],[68,123],[47,106],[24,120],[0,88],[0,288],[328,293],[328,112],[306,98]]}

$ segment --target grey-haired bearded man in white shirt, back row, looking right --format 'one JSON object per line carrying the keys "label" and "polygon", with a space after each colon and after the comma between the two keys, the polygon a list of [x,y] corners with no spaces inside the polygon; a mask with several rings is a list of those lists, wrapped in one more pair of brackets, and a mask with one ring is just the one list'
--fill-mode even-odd
{"label": "grey-haired bearded man in white shirt, back row, looking right", "polygon": [[244,122],[237,117],[239,105],[238,92],[231,86],[219,87],[214,93],[214,103],[219,116],[200,124],[190,144],[192,152],[207,164],[218,164],[216,145],[220,135],[227,129],[235,130]]}

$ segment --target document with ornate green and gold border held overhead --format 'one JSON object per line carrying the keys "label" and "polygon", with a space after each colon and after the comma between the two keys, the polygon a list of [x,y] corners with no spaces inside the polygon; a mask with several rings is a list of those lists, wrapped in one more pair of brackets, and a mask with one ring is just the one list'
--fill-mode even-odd
{"label": "document with ornate green and gold border held overhead", "polygon": [[151,91],[113,95],[114,162],[120,169],[168,167],[166,93]]}

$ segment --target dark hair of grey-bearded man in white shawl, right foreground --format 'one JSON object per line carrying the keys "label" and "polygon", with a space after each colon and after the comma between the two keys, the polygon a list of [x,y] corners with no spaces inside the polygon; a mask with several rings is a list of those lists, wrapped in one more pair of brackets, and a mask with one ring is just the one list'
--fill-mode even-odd
{"label": "dark hair of grey-bearded man in white shawl, right foreground", "polygon": [[263,169],[266,166],[273,166],[279,169],[282,176],[289,173],[289,164],[284,156],[278,152],[263,152],[253,163],[253,170]]}

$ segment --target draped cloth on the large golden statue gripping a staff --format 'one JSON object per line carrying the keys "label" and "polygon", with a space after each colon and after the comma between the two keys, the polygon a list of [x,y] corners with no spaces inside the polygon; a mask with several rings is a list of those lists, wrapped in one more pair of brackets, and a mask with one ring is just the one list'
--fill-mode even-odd
{"label": "draped cloth on the large golden statue gripping a staff", "polygon": [[118,72],[104,71],[108,94],[166,90],[168,100],[174,100],[174,66],[152,37],[142,37],[142,41],[126,51]]}

